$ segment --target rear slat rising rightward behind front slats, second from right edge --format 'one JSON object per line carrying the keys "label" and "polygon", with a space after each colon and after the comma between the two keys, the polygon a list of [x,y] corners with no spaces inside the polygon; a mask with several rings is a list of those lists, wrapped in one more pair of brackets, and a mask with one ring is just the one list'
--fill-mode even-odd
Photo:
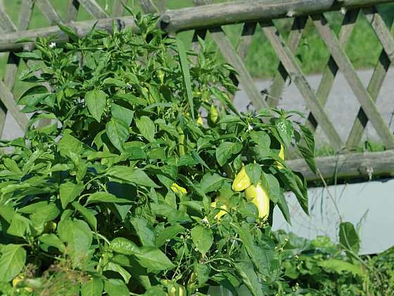
{"label": "rear slat rising rightward behind front slats, second from right edge", "polygon": [[[348,43],[350,35],[355,27],[355,22],[357,20],[357,16],[360,13],[360,9],[353,9],[351,11],[347,11],[345,13],[345,17],[343,18],[341,29],[339,30],[338,39],[342,46]],[[333,87],[333,82],[336,77],[336,73],[338,72],[338,66],[334,61],[333,57],[329,57],[329,61],[327,63],[326,68],[324,68],[322,74],[322,80],[319,83],[319,87],[317,88],[316,97],[319,100],[320,104],[324,106],[326,104],[327,99],[329,98],[329,94],[331,88]],[[317,121],[313,117],[312,113],[309,113],[307,116],[306,125],[311,130],[316,130]]]}

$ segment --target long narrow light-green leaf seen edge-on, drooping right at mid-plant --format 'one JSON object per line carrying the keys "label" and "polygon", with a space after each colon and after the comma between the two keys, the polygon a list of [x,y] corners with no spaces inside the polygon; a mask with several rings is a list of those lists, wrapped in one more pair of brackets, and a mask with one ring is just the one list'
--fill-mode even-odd
{"label": "long narrow light-green leaf seen edge-on, drooping right at mid-plant", "polygon": [[139,168],[130,168],[129,166],[113,166],[106,175],[113,178],[124,180],[136,185],[158,188],[159,186],[153,182],[151,178],[146,175],[144,171]]}

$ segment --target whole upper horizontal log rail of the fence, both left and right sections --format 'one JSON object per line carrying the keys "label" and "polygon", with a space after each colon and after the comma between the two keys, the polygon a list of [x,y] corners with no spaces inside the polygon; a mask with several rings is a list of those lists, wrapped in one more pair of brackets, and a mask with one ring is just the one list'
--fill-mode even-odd
{"label": "whole upper horizontal log rail of the fence, both left and right sections", "polygon": [[[89,1],[88,1],[89,2]],[[160,25],[167,32],[198,30],[234,23],[250,23],[293,16],[307,16],[323,11],[338,11],[393,2],[393,0],[249,0],[231,1],[222,4],[208,4],[190,8],[167,10],[160,16]],[[84,2],[83,2],[84,3]],[[97,27],[112,30],[115,21],[118,27],[135,28],[134,18],[101,18]],[[86,35],[95,20],[70,23],[80,36]],[[0,27],[2,20],[0,18]],[[0,51],[18,51],[32,46],[31,42],[20,39],[35,39],[38,36],[55,36],[54,41],[64,41],[65,35],[56,26],[34,30],[11,32],[0,39]]]}

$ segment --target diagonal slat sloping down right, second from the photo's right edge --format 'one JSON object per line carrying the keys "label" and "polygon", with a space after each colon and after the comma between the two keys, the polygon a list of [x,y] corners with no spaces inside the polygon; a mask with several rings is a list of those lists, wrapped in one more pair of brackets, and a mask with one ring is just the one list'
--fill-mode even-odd
{"label": "diagonal slat sloping down right, second from the photo's right edge", "polygon": [[355,96],[360,101],[360,105],[362,109],[367,114],[369,121],[371,121],[372,125],[379,137],[383,141],[383,144],[388,148],[394,147],[394,137],[391,134],[388,126],[383,121],[378,109],[376,109],[376,105],[367,92],[365,90],[364,85],[362,85],[362,81],[358,77],[355,68],[350,62],[348,56],[345,54],[343,47],[341,46],[338,37],[333,33],[331,28],[329,27],[329,23],[322,13],[312,16],[312,20],[314,22],[319,35],[322,37],[324,43],[327,48],[331,52],[331,55],[336,61],[339,69],[345,76],[346,80],[350,85],[350,88],[355,93]]}

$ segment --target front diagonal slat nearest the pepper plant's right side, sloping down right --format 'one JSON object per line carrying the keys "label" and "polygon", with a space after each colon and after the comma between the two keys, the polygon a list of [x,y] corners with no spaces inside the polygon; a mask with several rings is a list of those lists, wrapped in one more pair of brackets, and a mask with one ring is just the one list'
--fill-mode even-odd
{"label": "front diagonal slat nearest the pepper plant's right side, sloping down right", "polygon": [[253,106],[255,106],[255,109],[267,107],[267,103],[258,91],[255,82],[250,77],[248,70],[246,70],[245,64],[239,55],[236,54],[236,50],[231,44],[229,38],[224,34],[222,28],[210,29],[210,34],[212,39],[217,44],[217,47],[219,47],[220,51],[222,52],[227,63],[230,63],[238,72],[238,80],[241,83],[243,90],[248,95],[248,98],[252,102]]}

